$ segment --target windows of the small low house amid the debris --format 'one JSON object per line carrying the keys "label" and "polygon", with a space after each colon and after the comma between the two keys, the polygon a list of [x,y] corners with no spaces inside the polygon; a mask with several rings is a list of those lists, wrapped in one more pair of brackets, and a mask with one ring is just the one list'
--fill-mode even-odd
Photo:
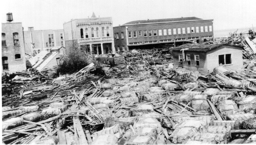
{"label": "windows of the small low house amid the debris", "polygon": [[[227,64],[232,64],[232,54],[221,54],[218,56],[219,58],[219,64],[222,65],[227,65]],[[195,55],[195,66],[199,66],[199,55]],[[191,65],[191,59],[190,59],[190,54],[186,55],[186,62],[187,65]],[[179,64],[183,64],[183,58],[182,54],[179,54]]]}

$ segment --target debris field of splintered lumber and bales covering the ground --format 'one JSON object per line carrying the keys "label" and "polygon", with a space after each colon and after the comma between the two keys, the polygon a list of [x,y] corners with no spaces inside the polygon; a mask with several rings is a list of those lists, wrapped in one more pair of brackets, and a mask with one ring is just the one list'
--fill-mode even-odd
{"label": "debris field of splintered lumber and bales covering the ground", "polygon": [[3,143],[256,143],[255,61],[201,75],[173,68],[169,49],[111,57],[98,58],[105,76],[91,74],[93,64],[57,78],[4,76]]}

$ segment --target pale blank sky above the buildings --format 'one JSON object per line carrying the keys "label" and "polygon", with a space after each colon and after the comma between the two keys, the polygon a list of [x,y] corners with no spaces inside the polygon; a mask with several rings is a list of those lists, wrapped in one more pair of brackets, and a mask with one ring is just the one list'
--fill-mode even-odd
{"label": "pale blank sky above the buildings", "polygon": [[256,0],[5,0],[2,22],[12,12],[24,30],[63,29],[76,18],[112,17],[113,26],[134,20],[197,17],[213,19],[215,30],[256,26]]}

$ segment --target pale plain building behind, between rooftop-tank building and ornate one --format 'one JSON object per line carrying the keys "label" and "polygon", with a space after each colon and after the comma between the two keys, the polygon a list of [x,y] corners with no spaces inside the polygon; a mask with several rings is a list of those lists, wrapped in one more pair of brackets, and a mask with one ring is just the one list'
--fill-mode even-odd
{"label": "pale plain building behind, between rooftop-tank building and ornate one", "polygon": [[24,31],[25,51],[28,54],[39,54],[41,51],[51,52],[51,49],[65,47],[64,31],[62,30],[34,30],[28,27]]}

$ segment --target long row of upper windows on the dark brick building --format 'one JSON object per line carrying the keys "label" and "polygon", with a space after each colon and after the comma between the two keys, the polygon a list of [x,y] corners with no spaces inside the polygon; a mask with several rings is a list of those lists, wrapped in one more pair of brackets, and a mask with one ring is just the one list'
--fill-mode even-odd
{"label": "long row of upper windows on the dark brick building", "polygon": [[[178,30],[178,32],[177,32]],[[208,32],[208,26],[201,26],[200,32]],[[167,33],[168,32],[168,33]],[[212,32],[212,26],[209,26],[209,32]],[[199,33],[199,27],[187,27],[187,34],[190,33]],[[176,34],[186,34],[186,28],[173,28],[172,29],[159,29],[158,34],[157,30],[143,30],[143,36],[144,37],[150,37],[150,36],[167,36],[167,35],[176,35]],[[114,36],[116,39],[119,39],[119,34],[114,33]],[[128,31],[128,38],[136,38],[137,37],[137,31]],[[142,37],[142,30],[138,31],[138,37]],[[124,39],[124,32],[121,32],[121,38]]]}

